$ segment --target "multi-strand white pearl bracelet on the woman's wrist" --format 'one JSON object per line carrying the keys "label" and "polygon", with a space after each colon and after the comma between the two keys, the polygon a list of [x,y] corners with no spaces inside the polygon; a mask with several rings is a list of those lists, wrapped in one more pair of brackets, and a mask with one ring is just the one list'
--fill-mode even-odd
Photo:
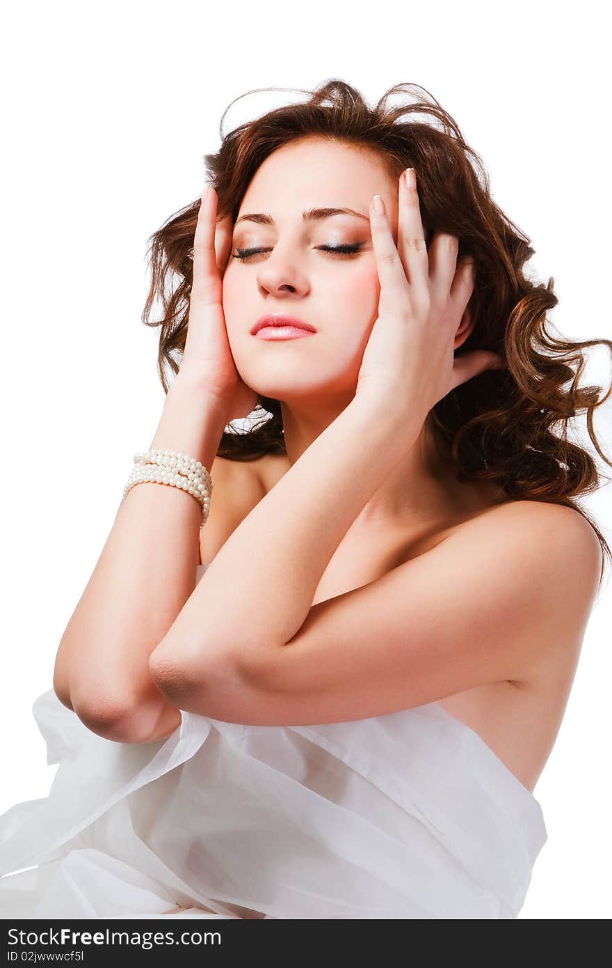
{"label": "multi-strand white pearl bracelet on the woman's wrist", "polygon": [[173,450],[148,450],[133,455],[134,468],[123,491],[123,500],[136,484],[151,481],[156,484],[169,484],[179,487],[192,495],[202,508],[204,527],[210,511],[213,479],[200,461],[188,454],[178,454]]}

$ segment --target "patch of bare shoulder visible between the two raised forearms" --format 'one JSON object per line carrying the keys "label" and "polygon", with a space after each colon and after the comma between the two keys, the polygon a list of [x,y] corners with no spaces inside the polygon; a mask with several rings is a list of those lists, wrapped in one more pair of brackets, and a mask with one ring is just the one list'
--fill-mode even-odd
{"label": "patch of bare shoulder visible between the two raised forearms", "polygon": [[210,513],[200,533],[200,561],[212,560],[232,531],[264,497],[270,456],[265,454],[253,461],[215,458],[210,469],[213,479]]}

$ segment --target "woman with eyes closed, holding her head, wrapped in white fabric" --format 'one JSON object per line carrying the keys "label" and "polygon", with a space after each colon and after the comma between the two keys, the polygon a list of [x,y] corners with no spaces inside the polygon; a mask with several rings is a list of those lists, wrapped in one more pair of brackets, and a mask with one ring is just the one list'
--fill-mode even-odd
{"label": "woman with eyes closed, holding her head, wrapped in white fabric", "polygon": [[586,410],[601,454],[607,396],[399,89],[238,128],[153,237],[166,401],[34,707],[60,768],[0,820],[6,916],[520,911],[610,555],[552,428]]}

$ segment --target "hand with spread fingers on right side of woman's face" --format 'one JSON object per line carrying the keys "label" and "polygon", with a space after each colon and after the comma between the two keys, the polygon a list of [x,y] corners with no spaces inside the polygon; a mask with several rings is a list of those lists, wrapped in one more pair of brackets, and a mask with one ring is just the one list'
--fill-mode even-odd
{"label": "hand with spread fingers on right side of woman's face", "polygon": [[454,357],[454,338],[474,289],[473,261],[457,266],[458,239],[438,232],[425,245],[416,187],[399,179],[397,246],[386,214],[370,202],[370,227],[380,297],[378,318],[364,349],[357,396],[387,411],[429,410],[459,383],[505,366],[477,349]]}

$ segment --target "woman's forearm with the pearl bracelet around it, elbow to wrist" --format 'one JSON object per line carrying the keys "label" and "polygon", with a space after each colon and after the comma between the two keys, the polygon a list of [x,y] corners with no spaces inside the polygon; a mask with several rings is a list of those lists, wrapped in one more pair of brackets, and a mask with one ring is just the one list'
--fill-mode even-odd
{"label": "woman's forearm with the pearl bracelet around it, elbow to wrist", "polygon": [[[210,469],[225,423],[215,400],[179,377],[149,449],[186,453]],[[143,482],[121,502],[55,661],[56,693],[92,728],[136,709],[138,735],[176,719],[148,660],[195,587],[200,525],[199,503],[179,488]]]}

